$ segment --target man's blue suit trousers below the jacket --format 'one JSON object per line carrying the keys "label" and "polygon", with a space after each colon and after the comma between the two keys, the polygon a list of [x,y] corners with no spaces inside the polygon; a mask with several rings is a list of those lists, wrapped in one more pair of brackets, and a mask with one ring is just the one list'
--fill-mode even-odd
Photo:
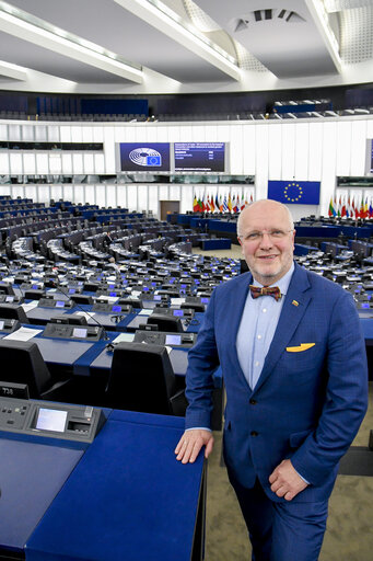
{"label": "man's blue suit trousers below the jacket", "polygon": [[317,561],[322,549],[328,501],[277,503],[264,492],[258,479],[253,489],[232,476],[253,546],[252,561]]}

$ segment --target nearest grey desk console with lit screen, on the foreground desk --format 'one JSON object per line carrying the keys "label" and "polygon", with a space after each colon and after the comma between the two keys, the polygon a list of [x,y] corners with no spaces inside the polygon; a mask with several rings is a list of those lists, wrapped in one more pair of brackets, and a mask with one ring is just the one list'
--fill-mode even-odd
{"label": "nearest grey desk console with lit screen, on the foreground desk", "polygon": [[101,409],[0,398],[0,431],[92,443],[105,423]]}

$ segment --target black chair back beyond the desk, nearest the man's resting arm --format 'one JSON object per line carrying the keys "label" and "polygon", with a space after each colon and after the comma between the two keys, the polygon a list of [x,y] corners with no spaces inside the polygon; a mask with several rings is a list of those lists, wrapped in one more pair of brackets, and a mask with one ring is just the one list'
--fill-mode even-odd
{"label": "black chair back beyond the desk, nearest the man's resting arm", "polygon": [[119,343],[114,350],[106,404],[145,413],[171,414],[175,375],[162,345]]}

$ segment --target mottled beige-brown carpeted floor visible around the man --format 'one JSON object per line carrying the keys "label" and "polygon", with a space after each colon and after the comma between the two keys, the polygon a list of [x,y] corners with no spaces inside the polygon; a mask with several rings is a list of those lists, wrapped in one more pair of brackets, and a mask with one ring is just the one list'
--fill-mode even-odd
{"label": "mottled beige-brown carpeted floor visible around the man", "polygon": [[[241,257],[241,250],[196,253]],[[373,385],[370,408],[354,440],[368,446],[373,430]],[[250,547],[241,511],[221,467],[222,434],[214,433],[215,446],[208,463],[206,561],[248,561]],[[372,451],[373,455],[373,451]],[[327,531],[319,561],[371,561],[373,559],[373,478],[339,476],[329,503]],[[289,560],[296,561],[296,560]]]}

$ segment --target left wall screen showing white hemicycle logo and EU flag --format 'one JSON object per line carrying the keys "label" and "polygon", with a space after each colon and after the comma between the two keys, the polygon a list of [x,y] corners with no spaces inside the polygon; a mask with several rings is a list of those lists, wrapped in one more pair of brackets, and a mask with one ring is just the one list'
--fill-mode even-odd
{"label": "left wall screen showing white hemicycle logo and EU flag", "polygon": [[170,172],[168,142],[117,144],[118,172]]}

